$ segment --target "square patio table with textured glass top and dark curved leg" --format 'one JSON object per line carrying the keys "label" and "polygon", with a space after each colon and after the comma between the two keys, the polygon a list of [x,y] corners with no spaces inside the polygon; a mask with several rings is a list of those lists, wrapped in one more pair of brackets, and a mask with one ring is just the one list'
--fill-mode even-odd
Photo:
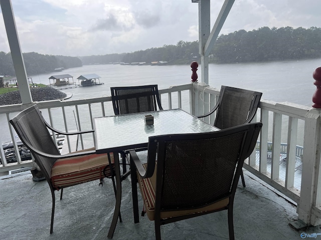
{"label": "square patio table with textured glass top and dark curved leg", "polygon": [[[144,115],[153,116],[153,124],[146,125]],[[114,152],[116,175],[116,204],[108,238],[112,238],[121,203],[121,176],[118,152],[147,147],[148,136],[197,133],[219,130],[182,109],[140,112],[94,118],[97,153]]]}

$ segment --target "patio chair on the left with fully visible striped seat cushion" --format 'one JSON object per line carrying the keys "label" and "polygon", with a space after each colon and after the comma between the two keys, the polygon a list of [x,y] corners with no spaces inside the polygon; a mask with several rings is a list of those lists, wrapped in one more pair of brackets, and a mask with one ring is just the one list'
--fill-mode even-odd
{"label": "patio chair on the left with fully visible striped seat cushion", "polygon": [[[113,153],[96,154],[93,147],[62,155],[48,128],[65,135],[88,133],[93,130],[67,133],[54,129],[45,121],[37,105],[23,110],[13,117],[10,123],[32,152],[49,184],[52,195],[50,233],[53,232],[54,224],[55,190],[61,190],[60,199],[62,199],[65,187],[97,179],[100,180],[99,184],[102,184],[103,177],[110,177],[115,191]],[[120,215],[119,220],[121,221]]]}

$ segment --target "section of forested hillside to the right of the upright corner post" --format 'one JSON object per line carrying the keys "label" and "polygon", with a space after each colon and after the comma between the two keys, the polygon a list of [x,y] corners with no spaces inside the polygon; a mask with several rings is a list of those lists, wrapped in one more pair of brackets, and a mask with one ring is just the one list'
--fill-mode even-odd
{"label": "section of forested hillside to the right of the upright corner post", "polygon": [[239,30],[218,37],[213,53],[219,63],[321,57],[321,28]]}

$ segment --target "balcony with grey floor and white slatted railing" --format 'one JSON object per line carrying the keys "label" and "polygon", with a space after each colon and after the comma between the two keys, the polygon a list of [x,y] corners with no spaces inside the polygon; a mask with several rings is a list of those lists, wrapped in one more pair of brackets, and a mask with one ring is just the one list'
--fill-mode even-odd
{"label": "balcony with grey floor and white slatted railing", "polygon": [[[162,105],[165,109],[180,107],[192,114],[199,115],[207,112],[214,106],[219,90],[204,83],[188,83],[159,89],[159,93],[161,94]],[[202,97],[209,99],[209,101],[200,101],[201,94]],[[0,107],[0,117],[10,119],[16,112],[31,104],[2,106]],[[92,129],[93,117],[113,114],[110,96],[85,100],[54,100],[38,102],[37,104],[46,120],[63,131],[74,131],[76,126],[78,126],[79,130]],[[260,108],[254,121],[262,121],[263,128],[256,150],[253,151],[244,164],[247,186],[243,188],[240,185],[237,189],[234,212],[235,236],[237,238],[248,239],[253,236],[254,238],[262,238],[263,236],[257,235],[263,234],[262,232],[266,232],[269,236],[276,234],[275,237],[277,238],[275,239],[282,239],[285,236],[297,238],[303,231],[310,233],[318,231],[318,227],[294,230],[293,227],[289,226],[289,223],[297,228],[307,225],[318,225],[317,219],[321,216],[317,204],[319,198],[313,198],[315,201],[309,205],[308,209],[305,203],[311,200],[307,197],[307,193],[313,193],[309,189],[316,191],[315,197],[317,197],[319,192],[317,185],[314,185],[313,188],[310,187],[310,184],[317,183],[319,179],[317,174],[318,167],[314,168],[314,162],[318,161],[319,154],[313,157],[313,148],[311,148],[313,144],[316,144],[316,136],[320,133],[314,130],[317,129],[318,121],[315,118],[317,118],[318,112],[317,108],[310,109],[309,107],[292,103],[261,100]],[[212,117],[205,120],[211,123],[214,119]],[[281,131],[279,130],[281,127],[284,128],[284,124],[286,125],[285,129],[287,129],[286,143],[281,142]],[[302,127],[304,129],[304,144],[303,146],[296,146],[293,139],[297,138],[297,129],[302,129]],[[8,129],[15,142],[15,132],[9,123],[3,129],[4,131]],[[312,129],[312,132],[310,129]],[[268,142],[270,136],[274,144]],[[67,152],[75,150],[74,142],[75,139],[66,137],[64,139],[64,149]],[[93,134],[84,134],[80,139],[80,148],[93,145]],[[18,152],[18,145],[15,145],[15,149]],[[286,156],[286,160],[283,159],[284,157],[280,158],[282,154]],[[25,161],[21,159],[19,154],[17,156],[18,159],[15,163],[7,163],[4,160],[3,164],[0,165],[0,172],[8,174],[12,170],[22,171],[23,169],[29,169],[24,167],[35,167],[33,160]],[[297,157],[300,157],[301,160],[303,159],[300,166],[296,165]],[[1,150],[1,158],[5,159],[3,149]],[[280,160],[283,160],[283,162],[280,162]],[[311,167],[317,170],[312,171]],[[300,171],[299,185],[295,183],[295,179],[298,178],[298,171]],[[311,174],[311,172],[314,172],[314,174]],[[19,176],[11,177],[14,175]],[[4,226],[2,228],[6,229],[6,234],[8,234],[6,237],[9,238],[18,233],[24,236],[39,234],[41,236],[39,239],[49,237],[51,201],[49,199],[50,192],[47,182],[32,181],[30,171],[14,173],[2,178],[5,179],[0,181],[2,189],[1,202],[4,202],[6,206],[3,208],[2,214],[6,216],[5,218],[8,221],[2,220],[2,225]],[[56,202],[57,213],[54,227],[56,239],[64,237],[68,237],[68,239],[73,237],[81,239],[84,235],[77,235],[79,232],[88,232],[88,237],[96,236],[97,239],[103,238],[107,234],[114,209],[114,196],[111,190],[111,183],[109,180],[106,180],[103,187],[98,187],[98,182],[82,185],[70,187],[66,191],[63,200],[57,200]],[[117,224],[114,238],[123,239],[128,236],[127,234],[137,234],[139,238],[143,238],[143,236],[148,234],[148,237],[145,239],[153,238],[153,231],[148,229],[153,229],[153,223],[149,222],[147,218],[142,218],[139,225],[134,225],[133,223],[131,196],[129,193],[125,193],[130,192],[130,179],[126,179],[123,182],[123,188],[121,212],[124,216],[124,222]],[[72,196],[69,198],[68,194]],[[77,202],[77,204],[72,204],[72,202]],[[88,204],[88,202],[92,203]],[[65,204],[66,206],[64,206]],[[74,208],[78,207],[78,205],[81,205],[82,209]],[[245,212],[244,209],[249,207],[253,208]],[[63,211],[64,209],[65,211]],[[77,213],[75,214],[74,212]],[[300,214],[306,216],[306,212],[310,212],[309,221],[304,220],[304,217],[300,218]],[[185,232],[185,229],[192,229],[189,227],[189,224],[191,224],[200,226],[200,228],[196,229],[195,232],[191,230],[194,233],[185,232],[187,236],[190,236],[190,234],[197,235],[198,233],[199,236],[205,234],[205,238],[212,234],[217,234],[217,237],[227,237],[228,231],[222,230],[227,228],[226,217],[227,215],[224,212],[222,214],[210,214],[204,216],[204,218],[188,220],[187,222],[176,223],[172,226],[171,224],[165,225],[163,226],[163,232],[165,235],[169,234],[168,237],[172,236],[173,232],[175,232],[175,234],[179,234],[177,236],[179,237],[183,234],[182,232]],[[311,220],[313,217],[315,219],[314,222]],[[34,220],[31,221],[30,219]],[[80,219],[85,220],[80,222]],[[20,223],[17,224],[17,221]],[[204,224],[202,221],[204,221]],[[20,224],[23,225],[24,222],[28,222],[25,227],[18,227]],[[218,224],[224,224],[225,226]],[[268,224],[268,227],[266,224]],[[270,224],[275,224],[275,226]],[[84,230],[86,229],[84,227],[87,230]],[[212,230],[212,227],[215,230]],[[253,227],[253,229],[251,230],[249,227]],[[176,228],[177,230],[175,230]],[[39,229],[39,232],[36,229]],[[48,232],[44,229],[48,230]],[[257,229],[262,229],[262,231]],[[88,237],[84,237],[84,239]]]}

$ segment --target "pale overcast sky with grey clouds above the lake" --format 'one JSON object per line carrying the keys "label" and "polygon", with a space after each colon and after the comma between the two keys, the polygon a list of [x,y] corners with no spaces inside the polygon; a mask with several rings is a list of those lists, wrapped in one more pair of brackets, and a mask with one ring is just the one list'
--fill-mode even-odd
{"label": "pale overcast sky with grey clouds above the lake", "polygon": [[[223,2],[211,1],[211,29]],[[104,55],[198,40],[198,3],[191,0],[12,0],[12,5],[23,52]],[[262,26],[321,27],[320,9],[321,0],[235,0],[221,34]],[[0,34],[0,51],[10,51],[7,34]]]}

